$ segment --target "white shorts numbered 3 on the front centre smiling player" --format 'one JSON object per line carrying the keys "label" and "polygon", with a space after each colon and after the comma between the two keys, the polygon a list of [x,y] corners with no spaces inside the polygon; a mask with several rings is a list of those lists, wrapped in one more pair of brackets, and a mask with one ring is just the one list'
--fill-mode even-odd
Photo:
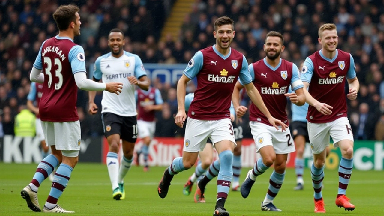
{"label": "white shorts numbered 3 on the front centre smiling player", "polygon": [[213,146],[222,140],[232,141],[236,145],[231,120],[229,118],[197,120],[188,117],[187,125],[185,126],[184,151],[202,151],[205,144],[207,144],[208,138],[212,141]]}

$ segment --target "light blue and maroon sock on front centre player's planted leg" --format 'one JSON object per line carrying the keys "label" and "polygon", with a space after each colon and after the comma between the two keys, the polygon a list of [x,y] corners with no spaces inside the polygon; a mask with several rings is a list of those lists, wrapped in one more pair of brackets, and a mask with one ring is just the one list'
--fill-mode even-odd
{"label": "light blue and maroon sock on front centre player's planted leg", "polygon": [[222,151],[218,155],[220,158],[220,171],[217,176],[217,200],[227,199],[229,187],[231,185],[233,171],[233,152],[230,150]]}

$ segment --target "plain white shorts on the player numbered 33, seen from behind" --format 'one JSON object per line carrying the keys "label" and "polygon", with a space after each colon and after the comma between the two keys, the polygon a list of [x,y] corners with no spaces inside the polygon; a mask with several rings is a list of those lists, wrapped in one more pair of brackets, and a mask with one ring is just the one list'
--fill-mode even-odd
{"label": "plain white shorts on the player numbered 33, seen from behind", "polygon": [[56,146],[56,150],[80,150],[80,121],[51,122],[41,121],[45,141],[48,146]]}

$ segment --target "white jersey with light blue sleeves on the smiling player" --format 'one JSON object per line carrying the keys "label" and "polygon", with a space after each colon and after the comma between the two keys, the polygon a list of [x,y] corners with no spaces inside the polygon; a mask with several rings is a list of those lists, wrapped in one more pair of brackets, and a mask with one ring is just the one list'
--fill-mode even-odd
{"label": "white jersey with light blue sleeves on the smiling player", "polygon": [[103,83],[123,83],[120,95],[103,92],[101,100],[101,113],[114,113],[119,116],[136,116],[135,85],[131,85],[128,76],[136,76],[137,79],[146,76],[144,65],[139,56],[125,52],[119,58],[111,53],[100,56],[94,64],[94,75],[96,80]]}

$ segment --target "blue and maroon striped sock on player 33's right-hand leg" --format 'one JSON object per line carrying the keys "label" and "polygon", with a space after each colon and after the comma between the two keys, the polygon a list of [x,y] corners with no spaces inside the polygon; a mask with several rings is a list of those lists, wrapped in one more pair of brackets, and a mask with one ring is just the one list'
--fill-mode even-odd
{"label": "blue and maroon striped sock on player 33's right-hand leg", "polygon": [[45,206],[48,209],[52,209],[56,206],[58,199],[68,185],[72,171],[73,168],[65,163],[61,163],[59,168],[57,168],[55,178],[52,182],[51,191],[45,203]]}

